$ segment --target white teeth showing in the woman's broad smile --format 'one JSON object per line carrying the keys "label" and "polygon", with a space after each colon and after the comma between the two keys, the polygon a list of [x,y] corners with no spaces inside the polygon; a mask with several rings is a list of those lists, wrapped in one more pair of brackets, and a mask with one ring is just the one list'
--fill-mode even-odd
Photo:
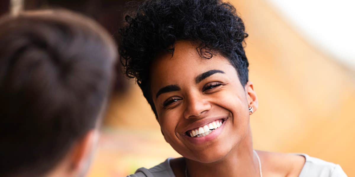
{"label": "white teeth showing in the woman's broad smile", "polygon": [[210,134],[212,131],[217,129],[218,127],[222,126],[223,119],[220,120],[215,120],[213,122],[208,123],[207,125],[204,125],[202,127],[198,127],[192,130],[189,130],[186,132],[186,134],[190,137],[205,137],[208,134]]}

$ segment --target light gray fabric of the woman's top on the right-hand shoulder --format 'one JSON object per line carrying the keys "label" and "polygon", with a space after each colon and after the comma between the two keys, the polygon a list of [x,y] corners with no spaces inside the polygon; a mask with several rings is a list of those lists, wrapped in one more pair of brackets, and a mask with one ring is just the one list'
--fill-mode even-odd
{"label": "light gray fabric of the woman's top on the right-hand shoulder", "polygon": [[306,162],[300,177],[318,176],[320,177],[347,177],[342,167],[332,162],[327,162],[316,157],[308,156],[307,154],[298,154],[306,158]]}

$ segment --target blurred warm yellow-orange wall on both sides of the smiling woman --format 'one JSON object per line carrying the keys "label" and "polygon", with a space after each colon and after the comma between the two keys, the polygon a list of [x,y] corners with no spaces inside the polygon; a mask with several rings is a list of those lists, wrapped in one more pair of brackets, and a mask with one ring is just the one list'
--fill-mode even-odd
{"label": "blurred warm yellow-orange wall on both sides of the smiling woman", "polygon": [[[259,109],[251,116],[256,149],[306,153],[355,176],[355,72],[307,44],[264,0],[231,1],[246,24],[250,81]],[[301,12],[300,12],[301,13]],[[178,156],[164,142],[139,88],[111,101],[90,176],[124,176]]]}

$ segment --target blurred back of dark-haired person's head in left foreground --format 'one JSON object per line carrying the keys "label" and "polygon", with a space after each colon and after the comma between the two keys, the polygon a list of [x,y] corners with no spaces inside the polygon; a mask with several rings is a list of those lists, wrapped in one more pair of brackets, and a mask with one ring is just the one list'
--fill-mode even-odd
{"label": "blurred back of dark-haired person's head in left foreground", "polygon": [[1,176],[84,176],[108,99],[115,44],[65,10],[0,19]]}

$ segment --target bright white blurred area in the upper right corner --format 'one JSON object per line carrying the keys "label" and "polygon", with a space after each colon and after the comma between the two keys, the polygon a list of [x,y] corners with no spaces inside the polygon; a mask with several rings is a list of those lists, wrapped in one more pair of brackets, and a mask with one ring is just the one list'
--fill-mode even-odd
{"label": "bright white blurred area in the upper right corner", "polygon": [[307,42],[355,71],[354,0],[267,0]]}

